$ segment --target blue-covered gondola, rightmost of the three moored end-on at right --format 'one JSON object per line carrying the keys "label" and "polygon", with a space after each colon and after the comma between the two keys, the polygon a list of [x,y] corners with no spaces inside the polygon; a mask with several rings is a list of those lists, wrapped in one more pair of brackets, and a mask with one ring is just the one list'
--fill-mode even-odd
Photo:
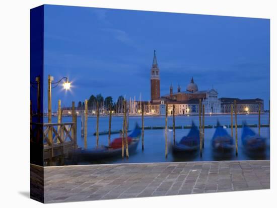
{"label": "blue-covered gondola, rightmost of the three moored end-on at right", "polygon": [[259,136],[252,129],[250,129],[246,125],[246,122],[243,123],[241,141],[247,151],[255,153],[255,151],[265,150],[265,138]]}

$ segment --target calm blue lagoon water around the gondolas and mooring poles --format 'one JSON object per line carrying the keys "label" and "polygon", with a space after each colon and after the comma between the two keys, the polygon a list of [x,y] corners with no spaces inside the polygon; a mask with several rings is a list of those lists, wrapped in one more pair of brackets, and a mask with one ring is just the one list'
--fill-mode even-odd
{"label": "calm blue lagoon water around the gondolas and mooring poles", "polygon": [[[268,114],[261,115],[261,124],[268,124]],[[52,119],[53,123],[57,122],[57,118]],[[72,118],[64,117],[63,122],[71,122]],[[221,125],[230,125],[230,115],[221,116],[205,116],[205,125],[216,125],[217,120],[220,121]],[[194,121],[196,125],[199,125],[198,116],[179,116],[175,118],[176,126],[191,125],[191,121]],[[235,119],[234,119],[235,121]],[[258,124],[257,115],[239,115],[238,125],[242,124],[242,121],[247,121],[247,124]],[[101,117],[99,119],[99,131],[108,130],[108,117]],[[129,117],[129,129],[131,130],[135,123],[141,126],[141,117]],[[145,127],[146,126],[164,126],[165,117],[145,117]],[[172,117],[168,118],[168,125],[172,126]],[[112,130],[119,130],[122,128],[122,117],[112,118]],[[252,128],[255,132],[258,132],[258,128]],[[231,129],[226,129],[229,134],[231,134]],[[199,156],[199,152],[194,155],[186,155],[182,157],[176,157],[172,155],[169,146],[168,157],[165,158],[165,130],[145,130],[145,149],[142,151],[142,143],[137,147],[136,153],[131,154],[128,159],[122,159],[121,157],[105,159],[99,161],[78,161],[73,162],[67,160],[65,164],[107,164],[107,163],[141,163],[141,162],[172,162],[172,161],[212,161],[212,160],[253,160],[253,159],[269,159],[269,128],[261,128],[261,136],[267,138],[267,148],[264,154],[248,155],[244,152],[241,145],[241,130],[238,128],[238,156],[234,154],[228,157],[215,157],[213,149],[211,146],[211,139],[215,132],[213,129],[205,129],[204,138],[204,149],[202,152],[202,157]],[[96,136],[93,133],[96,131],[96,118],[88,118],[88,149],[96,146]],[[189,129],[176,129],[176,141],[179,141],[183,136],[187,135]],[[235,129],[234,129],[235,135]],[[84,147],[84,138],[81,137],[81,118],[78,118],[78,146]],[[119,137],[119,134],[112,134],[111,140],[113,138]],[[172,142],[173,132],[168,132],[168,140]],[[108,135],[99,136],[99,144],[108,144]]]}

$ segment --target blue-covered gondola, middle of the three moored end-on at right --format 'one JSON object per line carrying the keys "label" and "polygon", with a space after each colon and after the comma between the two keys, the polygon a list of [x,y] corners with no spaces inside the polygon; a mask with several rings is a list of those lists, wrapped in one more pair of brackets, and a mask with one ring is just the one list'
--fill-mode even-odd
{"label": "blue-covered gondola, middle of the three moored end-on at right", "polygon": [[212,138],[212,146],[215,151],[225,153],[230,152],[234,148],[234,139],[228,134],[226,129],[217,123],[216,132]]}

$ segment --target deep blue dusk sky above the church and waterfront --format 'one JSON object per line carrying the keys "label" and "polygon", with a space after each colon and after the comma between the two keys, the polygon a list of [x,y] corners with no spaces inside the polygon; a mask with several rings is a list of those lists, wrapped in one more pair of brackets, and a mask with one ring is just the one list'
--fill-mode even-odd
{"label": "deep blue dusk sky above the church and waterfront", "polygon": [[[199,90],[219,97],[269,100],[269,20],[84,7],[45,6],[45,97],[47,75],[68,76],[71,91],[52,90],[70,106],[101,93],[150,99],[150,69],[156,50],[161,95],[191,77]],[[45,103],[47,109],[47,102]]]}

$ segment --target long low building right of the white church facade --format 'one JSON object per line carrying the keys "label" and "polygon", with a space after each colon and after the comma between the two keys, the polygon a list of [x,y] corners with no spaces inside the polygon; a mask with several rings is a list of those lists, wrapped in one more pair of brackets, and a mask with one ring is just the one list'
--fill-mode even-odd
{"label": "long low building right of the white church facade", "polygon": [[[231,113],[231,105],[234,105],[234,100],[237,102],[237,112],[238,113],[258,113],[259,112],[259,104],[261,107],[261,113],[264,112],[263,109],[263,100],[260,98],[256,99],[239,99],[239,98],[230,98],[230,97],[222,97],[221,100],[221,112],[222,113]],[[235,110],[234,110],[235,112]]]}

